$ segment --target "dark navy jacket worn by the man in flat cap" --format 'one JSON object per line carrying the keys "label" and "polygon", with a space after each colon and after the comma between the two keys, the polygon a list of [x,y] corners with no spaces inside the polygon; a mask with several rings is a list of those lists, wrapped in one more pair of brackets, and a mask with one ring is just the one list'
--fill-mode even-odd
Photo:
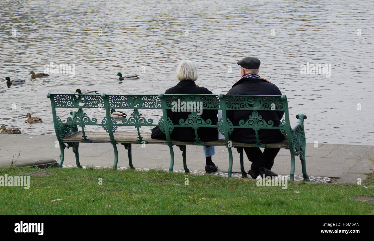
{"label": "dark navy jacket worn by the man in flat cap", "polygon": [[[271,84],[260,78],[242,78],[236,82],[227,94],[248,94],[248,95],[282,95],[276,85]],[[279,126],[284,111],[257,111],[266,122],[273,120],[273,126]],[[252,114],[252,110],[227,110],[227,118],[233,125],[239,125],[239,120],[246,121],[248,116]],[[284,139],[283,134],[275,129],[260,129],[258,131],[261,143],[277,143]],[[243,143],[255,143],[255,131],[253,129],[234,129],[230,135],[230,140]]]}

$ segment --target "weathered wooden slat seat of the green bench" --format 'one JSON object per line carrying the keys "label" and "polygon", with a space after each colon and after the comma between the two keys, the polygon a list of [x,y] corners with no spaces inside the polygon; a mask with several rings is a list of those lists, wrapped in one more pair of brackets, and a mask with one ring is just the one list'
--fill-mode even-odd
{"label": "weathered wooden slat seat of the green bench", "polygon": [[[111,143],[110,137],[108,133],[106,132],[86,131],[85,134],[88,139],[92,140],[92,143]],[[116,140],[116,143],[136,144],[137,141],[139,140],[137,132],[114,132],[113,134],[114,134],[114,139]],[[83,135],[82,131],[79,131],[75,134],[72,134],[64,138],[63,141],[67,143],[68,142],[80,142],[80,140],[82,139],[82,135]],[[147,144],[163,144],[163,145],[168,144],[168,141],[166,140],[151,139],[151,133],[142,132],[141,136],[144,140],[147,140]],[[172,140],[172,143],[175,145],[193,145],[193,142],[188,142],[188,141]],[[205,142],[205,144],[226,147],[225,140],[209,141],[209,142]],[[253,144],[246,144],[246,143],[233,141],[232,146],[233,147],[253,147]],[[279,143],[265,144],[265,147],[288,148],[288,141],[287,141],[287,138],[285,138],[285,140]]]}

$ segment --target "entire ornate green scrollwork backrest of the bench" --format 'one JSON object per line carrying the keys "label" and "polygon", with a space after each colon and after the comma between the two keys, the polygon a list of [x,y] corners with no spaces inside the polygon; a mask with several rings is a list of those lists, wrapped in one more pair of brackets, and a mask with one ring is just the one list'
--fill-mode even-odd
{"label": "entire ornate green scrollwork backrest of the bench", "polygon": [[[131,114],[131,117],[128,119],[123,119],[122,123],[116,123],[116,121],[111,117],[108,120],[107,116],[102,120],[101,124],[105,131],[110,132],[108,128],[111,126],[111,132],[115,132],[117,126],[126,125],[134,126],[137,128],[138,132],[138,143],[143,141],[143,138],[140,135],[141,126],[159,126],[160,130],[165,133],[168,131],[170,134],[176,126],[190,126],[194,129],[196,138],[195,143],[202,143],[200,138],[197,135],[197,129],[202,126],[211,126],[211,120],[202,119],[195,111],[192,110],[191,114],[186,120],[181,119],[179,125],[175,125],[172,121],[167,118],[167,123],[164,122],[166,118],[165,112],[157,125],[153,124],[152,119],[145,119],[139,113],[138,109],[172,109],[173,102],[199,102],[202,103],[202,109],[222,109],[222,110],[252,110],[252,115],[249,116],[249,119],[241,120],[239,123],[240,127],[252,128],[256,132],[257,145],[262,145],[258,137],[258,129],[262,127],[269,127],[272,129],[273,123],[266,122],[264,119],[258,115],[258,111],[285,111],[287,109],[287,103],[285,96],[245,96],[245,95],[220,95],[221,101],[224,107],[221,106],[220,98],[217,95],[172,95],[172,94],[160,94],[160,95],[96,95],[96,94],[48,94],[48,97],[51,98],[52,109],[57,107],[70,107],[70,108],[79,108],[79,110],[74,113],[73,118],[67,118],[67,122],[62,124],[61,120],[58,118],[55,121],[55,128],[58,129],[58,132],[61,132],[61,137],[66,137],[67,135],[77,132],[77,125],[82,127],[83,138],[82,141],[90,141],[86,138],[84,132],[84,126],[95,124],[97,120],[95,118],[88,118],[86,113],[83,112],[82,108],[102,108],[107,109],[134,109],[134,112]],[[53,112],[55,115],[55,112]],[[109,121],[109,123],[108,123]],[[289,120],[286,119],[286,122]],[[226,122],[226,123],[225,123]],[[66,126],[65,126],[66,125]],[[69,126],[71,125],[71,126]],[[226,126],[227,125],[227,128]],[[165,130],[165,126],[168,130]],[[224,129],[227,129],[228,134],[230,135],[234,128],[239,128],[233,126],[233,123],[226,119],[220,119],[217,123],[218,131],[224,134]],[[224,128],[225,126],[225,128]],[[285,120],[282,120],[279,127],[274,126],[274,129],[279,129],[283,135],[288,133],[286,128],[289,128],[289,123],[285,123]],[[295,132],[296,133],[296,132]],[[111,138],[113,135],[111,136]]]}

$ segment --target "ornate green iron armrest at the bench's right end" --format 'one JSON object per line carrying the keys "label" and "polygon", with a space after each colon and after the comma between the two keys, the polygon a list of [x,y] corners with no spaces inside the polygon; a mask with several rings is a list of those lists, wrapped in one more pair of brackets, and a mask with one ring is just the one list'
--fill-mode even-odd
{"label": "ornate green iron armrest at the bench's right end", "polygon": [[295,148],[295,155],[305,155],[305,131],[304,131],[304,120],[306,119],[306,115],[298,114],[296,118],[299,120],[297,125],[291,129],[291,140],[292,145]]}

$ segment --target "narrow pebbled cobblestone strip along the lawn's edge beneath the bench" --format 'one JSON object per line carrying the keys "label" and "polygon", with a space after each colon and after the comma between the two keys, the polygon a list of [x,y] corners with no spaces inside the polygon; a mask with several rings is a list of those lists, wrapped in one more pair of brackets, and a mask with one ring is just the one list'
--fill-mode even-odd
{"label": "narrow pebbled cobblestone strip along the lawn's edge beneath the bench", "polygon": [[[76,168],[77,166],[73,166],[73,165],[62,165],[62,168]],[[82,166],[83,169],[86,169],[87,166]],[[111,166],[92,166],[92,168],[112,168]],[[126,170],[126,169],[129,169],[129,168],[126,168],[126,167],[117,167],[117,170]],[[156,169],[156,168],[135,168],[135,170],[139,170],[139,171],[142,171],[142,172],[147,172],[149,171],[150,169],[152,170],[165,170],[165,171],[169,171],[169,169]],[[173,172],[176,172],[176,173],[185,173],[184,170],[173,170]],[[197,171],[197,170],[190,170],[190,174],[194,174],[194,175],[205,175],[205,171]],[[223,176],[223,177],[226,177],[228,178],[229,177],[229,173],[227,172],[214,172],[213,175],[216,175],[216,176]],[[249,175],[248,175],[249,176]],[[241,178],[242,177],[242,173],[232,173],[232,177],[233,178]],[[290,179],[289,175],[278,175],[278,177],[276,177],[275,179],[277,180],[278,178],[287,178],[288,180]],[[303,181],[303,176],[302,175],[295,175],[294,176],[294,181]],[[310,179],[310,182],[331,182],[331,179],[328,178],[328,177],[324,177],[324,176],[309,176],[309,179]]]}

